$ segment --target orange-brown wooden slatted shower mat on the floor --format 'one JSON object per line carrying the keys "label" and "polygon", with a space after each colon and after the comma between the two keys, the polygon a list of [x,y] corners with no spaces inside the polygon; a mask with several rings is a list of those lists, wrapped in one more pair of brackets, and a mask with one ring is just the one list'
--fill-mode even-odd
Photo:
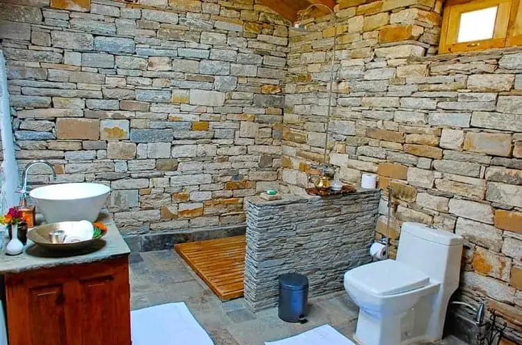
{"label": "orange-brown wooden slatted shower mat on the floor", "polygon": [[243,296],[244,235],[180,243],[174,248],[221,300]]}

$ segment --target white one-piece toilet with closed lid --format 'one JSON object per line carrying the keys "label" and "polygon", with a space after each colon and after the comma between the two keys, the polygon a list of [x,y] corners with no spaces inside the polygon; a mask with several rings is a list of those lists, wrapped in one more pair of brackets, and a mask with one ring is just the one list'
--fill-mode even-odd
{"label": "white one-piece toilet with closed lid", "polygon": [[362,345],[433,342],[442,337],[450,296],[459,286],[463,239],[404,223],[396,260],[345,273],[345,289],[359,306],[356,341]]}

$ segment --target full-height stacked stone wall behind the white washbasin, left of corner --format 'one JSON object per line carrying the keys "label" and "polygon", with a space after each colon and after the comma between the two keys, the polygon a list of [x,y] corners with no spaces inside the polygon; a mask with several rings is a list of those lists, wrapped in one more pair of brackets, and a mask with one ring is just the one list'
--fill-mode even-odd
{"label": "full-height stacked stone wall behind the white washbasin, left of corner", "polygon": [[0,44],[19,168],[111,186],[127,236],[241,225],[277,184],[287,26],[254,0],[0,0]]}

